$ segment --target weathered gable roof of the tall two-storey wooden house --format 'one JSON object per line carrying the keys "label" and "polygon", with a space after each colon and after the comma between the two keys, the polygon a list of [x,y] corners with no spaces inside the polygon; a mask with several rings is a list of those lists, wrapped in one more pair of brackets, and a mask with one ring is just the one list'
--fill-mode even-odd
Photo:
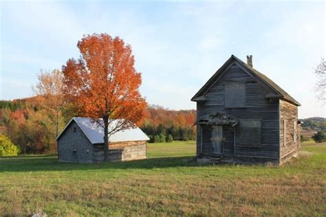
{"label": "weathered gable roof of the tall two-storey wooden house", "polygon": [[255,79],[261,81],[262,83],[264,83],[265,85],[270,87],[272,90],[274,90],[274,93],[270,93],[270,94],[266,95],[265,96],[266,98],[285,99],[286,101],[289,101],[290,103],[293,103],[294,105],[297,105],[297,106],[301,105],[292,96],[290,96],[290,94],[287,94],[287,92],[285,92],[285,90],[283,90],[281,87],[279,87],[279,85],[277,85],[276,83],[274,83],[274,81],[269,79],[268,76],[265,76],[265,74],[259,72],[258,70],[255,70],[254,68],[251,68],[250,65],[248,65],[247,63],[244,63],[243,61],[241,61],[241,59],[237,58],[237,56],[235,56],[235,55],[232,55],[224,63],[224,65],[222,65],[221,68],[219,68],[219,70],[217,70],[217,72],[215,72],[215,74],[212,77],[210,77],[210,79],[197,92],[197,94],[195,94],[195,96],[193,96],[191,101],[198,101],[197,99],[202,99],[201,96],[204,96],[206,90],[208,90],[208,88],[213,83],[215,83],[216,79],[219,79],[220,75],[224,72],[224,70],[228,67],[228,65],[230,65],[233,62],[239,63],[239,65],[241,65],[247,72],[252,74],[252,76]]}

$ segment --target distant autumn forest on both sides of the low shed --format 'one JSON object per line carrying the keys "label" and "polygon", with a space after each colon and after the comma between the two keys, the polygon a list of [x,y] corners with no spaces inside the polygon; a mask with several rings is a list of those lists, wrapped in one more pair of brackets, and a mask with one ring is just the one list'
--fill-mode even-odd
{"label": "distant autumn forest on both sides of the low shed", "polygon": [[[65,107],[61,114],[59,131],[73,117],[78,116],[72,107]],[[0,134],[21,147],[23,154],[56,152],[56,116],[43,107],[37,97],[0,101]],[[139,127],[149,136],[150,143],[195,139],[195,110],[167,110],[150,105]]]}

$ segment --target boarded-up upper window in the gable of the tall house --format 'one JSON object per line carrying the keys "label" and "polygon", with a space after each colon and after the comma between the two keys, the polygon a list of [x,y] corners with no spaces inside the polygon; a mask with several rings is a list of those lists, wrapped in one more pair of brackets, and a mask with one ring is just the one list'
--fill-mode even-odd
{"label": "boarded-up upper window in the gable of the tall house", "polygon": [[225,85],[225,107],[244,107],[246,103],[246,85],[229,83]]}

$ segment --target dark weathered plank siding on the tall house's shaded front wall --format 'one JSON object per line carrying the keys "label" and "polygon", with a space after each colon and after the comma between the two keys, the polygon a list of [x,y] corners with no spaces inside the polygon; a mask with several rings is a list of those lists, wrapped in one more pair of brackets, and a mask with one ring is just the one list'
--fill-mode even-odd
{"label": "dark weathered plank siding on the tall house's shaded front wall", "polygon": [[[246,84],[245,107],[226,108],[224,106],[224,85],[228,83]],[[197,118],[202,118],[213,112],[223,112],[237,119],[261,119],[262,144],[259,147],[245,147],[239,144],[239,126],[235,127],[235,129],[224,127],[224,138],[226,138],[224,141],[225,155],[233,155],[233,131],[235,130],[237,156],[279,158],[279,101],[265,99],[265,95],[270,91],[244,72],[239,65],[233,63],[217,83],[206,92],[205,96],[208,101],[197,103]],[[199,130],[198,132],[198,136],[202,136]],[[210,150],[209,138],[210,131],[203,129],[204,155],[208,154],[208,150]],[[199,146],[198,141],[200,139],[197,139],[197,145]],[[200,148],[197,147],[197,150],[200,150]]]}

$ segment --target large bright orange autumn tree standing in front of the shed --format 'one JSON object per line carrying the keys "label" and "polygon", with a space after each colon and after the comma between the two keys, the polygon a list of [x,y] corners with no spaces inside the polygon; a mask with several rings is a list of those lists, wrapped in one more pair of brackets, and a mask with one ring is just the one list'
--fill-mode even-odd
{"label": "large bright orange autumn tree standing in front of the shed", "polygon": [[[109,34],[85,35],[78,41],[80,59],[63,65],[65,96],[78,111],[104,128],[105,161],[109,136],[140,123],[146,102],[139,92],[131,46]],[[100,119],[101,118],[101,119]]]}

